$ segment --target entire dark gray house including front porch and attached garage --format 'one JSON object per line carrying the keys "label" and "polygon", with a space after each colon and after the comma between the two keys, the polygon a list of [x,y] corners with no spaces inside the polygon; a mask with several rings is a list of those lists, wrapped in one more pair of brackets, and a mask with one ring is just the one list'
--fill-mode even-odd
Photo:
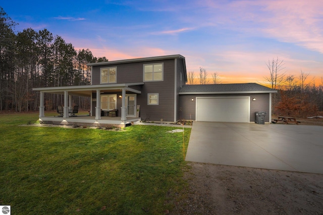
{"label": "entire dark gray house including front porch and attached garage", "polygon": [[[39,120],[55,124],[126,124],[146,121],[254,121],[266,111],[271,121],[275,90],[258,84],[186,85],[182,55],[89,63],[91,85],[33,89],[40,92]],[[64,95],[63,117],[46,117],[44,93]],[[91,98],[89,116],[70,117],[72,96]],[[59,104],[58,104],[59,105]],[[109,111],[117,110],[117,117]]]}

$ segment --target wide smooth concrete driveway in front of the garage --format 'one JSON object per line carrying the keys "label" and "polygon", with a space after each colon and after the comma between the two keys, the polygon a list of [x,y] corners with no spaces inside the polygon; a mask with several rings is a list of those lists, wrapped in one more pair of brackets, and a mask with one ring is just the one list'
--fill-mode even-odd
{"label": "wide smooth concrete driveway in front of the garage", "polygon": [[323,174],[323,126],[194,122],[185,160]]}

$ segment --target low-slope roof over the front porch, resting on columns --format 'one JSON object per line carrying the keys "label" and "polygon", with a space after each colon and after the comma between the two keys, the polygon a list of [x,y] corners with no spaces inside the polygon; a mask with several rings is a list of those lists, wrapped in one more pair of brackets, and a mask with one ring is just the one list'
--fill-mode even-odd
{"label": "low-slope roof over the front porch, resting on columns", "polygon": [[69,95],[90,97],[92,91],[100,90],[101,92],[116,92],[130,91],[132,93],[141,94],[141,91],[132,89],[131,86],[143,85],[140,83],[123,83],[123,84],[100,84],[100,85],[83,85],[83,86],[66,86],[66,87],[44,87],[33,88],[34,91],[40,91],[43,93],[64,94],[65,91],[69,92]]}

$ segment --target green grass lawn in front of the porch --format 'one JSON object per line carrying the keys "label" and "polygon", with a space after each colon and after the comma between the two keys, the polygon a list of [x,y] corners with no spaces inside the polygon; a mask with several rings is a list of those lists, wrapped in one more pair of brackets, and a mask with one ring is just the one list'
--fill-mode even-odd
{"label": "green grass lawn in front of the porch", "polygon": [[178,128],[19,126],[37,119],[0,113],[0,205],[12,214],[163,214],[187,186],[183,132],[167,132]]}

